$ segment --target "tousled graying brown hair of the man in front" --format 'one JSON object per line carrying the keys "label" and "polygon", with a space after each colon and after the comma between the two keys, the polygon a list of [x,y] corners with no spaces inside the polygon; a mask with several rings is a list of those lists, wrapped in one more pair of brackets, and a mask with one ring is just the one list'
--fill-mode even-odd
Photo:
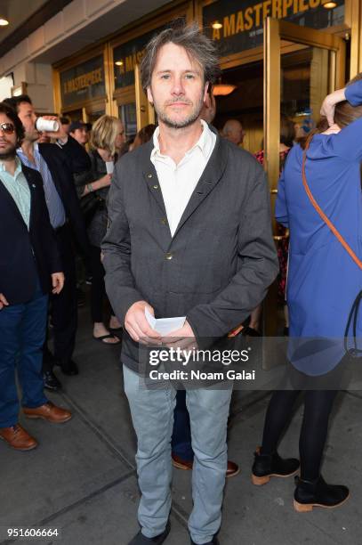
{"label": "tousled graying brown hair of the man in front", "polygon": [[204,70],[204,81],[213,85],[220,74],[219,56],[213,40],[200,32],[197,23],[187,25],[184,20],[175,20],[170,28],[165,28],[146,45],[140,66],[141,85],[145,91],[151,84],[158,51],[163,45],[170,43],[183,47]]}

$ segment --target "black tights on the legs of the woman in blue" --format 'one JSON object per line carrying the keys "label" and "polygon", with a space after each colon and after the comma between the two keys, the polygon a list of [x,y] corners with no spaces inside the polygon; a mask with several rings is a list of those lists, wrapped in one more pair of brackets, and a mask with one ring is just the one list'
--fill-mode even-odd
{"label": "black tights on the legs of the woman in blue", "polygon": [[[300,390],[277,390],[271,396],[262,435],[263,454],[277,451],[280,436],[291,419],[294,403],[300,393]],[[301,478],[304,480],[312,481],[319,476],[328,419],[336,393],[335,390],[304,392],[304,414],[299,438]]]}

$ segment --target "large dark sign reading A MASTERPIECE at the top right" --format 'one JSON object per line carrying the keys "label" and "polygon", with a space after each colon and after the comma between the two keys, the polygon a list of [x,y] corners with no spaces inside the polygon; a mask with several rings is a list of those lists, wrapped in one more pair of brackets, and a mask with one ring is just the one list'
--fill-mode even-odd
{"label": "large dark sign reading A MASTERPIECE at the top right", "polygon": [[[263,20],[285,19],[310,28],[342,24],[344,0],[335,0],[332,10],[323,7],[326,0],[217,0],[203,8],[203,26],[207,36],[220,42],[221,56],[239,53],[262,45]],[[215,22],[221,28],[213,28]]]}

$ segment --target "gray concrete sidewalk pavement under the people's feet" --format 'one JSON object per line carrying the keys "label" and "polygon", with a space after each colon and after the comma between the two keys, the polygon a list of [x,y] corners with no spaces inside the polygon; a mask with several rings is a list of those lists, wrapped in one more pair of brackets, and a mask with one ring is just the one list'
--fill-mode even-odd
{"label": "gray concrete sidewalk pavement under the people's feet", "polygon": [[[63,425],[43,420],[20,423],[39,441],[35,451],[12,451],[0,443],[0,545],[8,528],[57,529],[41,545],[126,545],[138,532],[135,436],[123,392],[119,346],[92,338],[88,309],[81,309],[75,360],[80,374],[60,375],[61,394],[53,403],[70,408]],[[357,545],[362,541],[362,392],[338,395],[326,446],[323,474],[331,484],[347,484],[350,500],[341,508],[293,508],[294,479],[271,479],[253,486],[253,451],[260,443],[268,392],[235,392],[229,419],[229,459],[241,473],[225,489],[221,545]],[[298,457],[301,407],[280,445],[283,456]],[[173,471],[172,530],[167,545],[188,545],[191,472]]]}

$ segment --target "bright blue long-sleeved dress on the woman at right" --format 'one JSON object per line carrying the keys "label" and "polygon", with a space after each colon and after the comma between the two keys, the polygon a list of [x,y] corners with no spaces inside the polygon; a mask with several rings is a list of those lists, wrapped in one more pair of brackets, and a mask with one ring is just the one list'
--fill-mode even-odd
{"label": "bright blue long-sleeved dress on the woman at right", "polygon": [[[362,103],[362,81],[347,87],[346,98],[353,106]],[[276,218],[290,229],[286,288],[290,336],[336,341],[332,343],[334,346],[326,344],[319,362],[318,358],[312,358],[311,372],[320,374],[331,369],[343,355],[342,338],[350,308],[362,289],[362,271],[310,203],[302,183],[302,155],[303,150],[297,145],[286,159],[278,183]],[[305,169],[319,207],[360,259],[361,161],[362,118],[358,118],[338,134],[316,134],[307,151]],[[361,314],[359,338],[362,338]],[[307,360],[300,360],[295,366],[302,370]]]}

